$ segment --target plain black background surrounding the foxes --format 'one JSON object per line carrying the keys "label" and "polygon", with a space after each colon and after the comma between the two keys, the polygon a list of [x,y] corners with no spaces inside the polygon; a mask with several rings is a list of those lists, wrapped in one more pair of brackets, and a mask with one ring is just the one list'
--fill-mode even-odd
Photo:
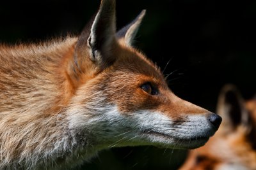
{"label": "plain black background surrounding the foxes", "polygon": [[[0,41],[15,44],[78,35],[97,11],[97,0],[10,1],[0,4]],[[117,0],[117,28],[141,10],[147,15],[136,46],[172,73],[170,88],[214,111],[218,92],[233,83],[248,99],[256,89],[256,1]],[[82,169],[175,169],[184,151],[148,147],[100,152]]]}

